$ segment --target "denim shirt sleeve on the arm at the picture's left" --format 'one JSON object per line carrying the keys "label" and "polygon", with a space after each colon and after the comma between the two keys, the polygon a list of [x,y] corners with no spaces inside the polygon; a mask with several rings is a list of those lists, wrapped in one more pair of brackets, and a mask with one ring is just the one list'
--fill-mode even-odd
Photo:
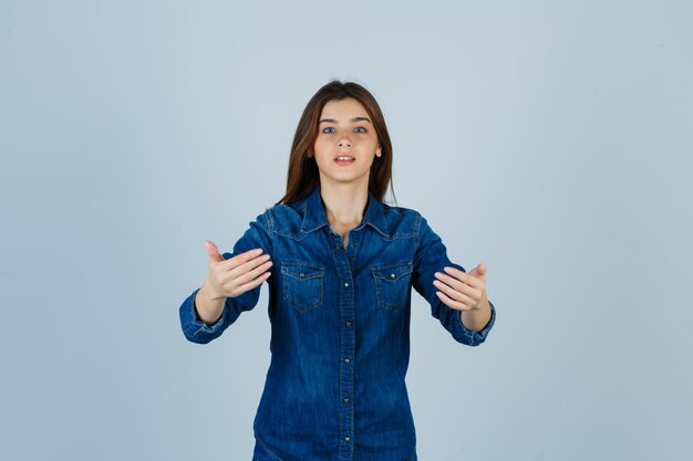
{"label": "denim shirt sleeve on the arm at the picture's left", "polygon": [[[256,248],[262,249],[262,254],[270,255],[270,260],[273,261],[273,244],[271,239],[271,214],[269,210],[259,214],[255,221],[249,223],[249,228],[244,235],[236,242],[231,253],[224,253],[221,256],[225,260],[234,258],[237,254],[244,253],[248,250]],[[275,270],[275,265],[270,268],[270,272]],[[273,276],[270,275],[270,279]],[[268,279],[269,281],[269,279]],[[260,289],[262,284],[242,293],[236,297],[227,297],[221,311],[219,319],[208,325],[197,315],[195,307],[195,296],[201,289],[196,289],[180,305],[178,312],[180,317],[180,327],[186,339],[197,344],[207,344],[210,340],[219,337],[226,328],[229,327],[244,311],[251,311],[258,303],[260,297]]]}

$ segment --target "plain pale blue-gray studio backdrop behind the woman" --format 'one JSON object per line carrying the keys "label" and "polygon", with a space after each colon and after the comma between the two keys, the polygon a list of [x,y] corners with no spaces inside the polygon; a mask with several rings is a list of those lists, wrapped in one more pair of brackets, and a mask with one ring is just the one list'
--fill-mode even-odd
{"label": "plain pale blue-gray studio backdrop behind the woman", "polygon": [[488,266],[477,348],[413,295],[420,459],[691,459],[692,22],[685,1],[0,1],[0,459],[250,459],[267,286],[208,345],[178,306],[205,239],[230,251],[282,196],[331,78],[382,105],[397,205]]}

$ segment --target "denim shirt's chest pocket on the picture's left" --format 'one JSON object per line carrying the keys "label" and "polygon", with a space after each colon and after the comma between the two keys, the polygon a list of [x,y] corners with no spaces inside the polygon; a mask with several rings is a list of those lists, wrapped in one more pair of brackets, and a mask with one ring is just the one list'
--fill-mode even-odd
{"label": "denim shirt's chest pocket on the picture's left", "polygon": [[282,261],[283,301],[299,312],[322,305],[324,266],[301,261]]}

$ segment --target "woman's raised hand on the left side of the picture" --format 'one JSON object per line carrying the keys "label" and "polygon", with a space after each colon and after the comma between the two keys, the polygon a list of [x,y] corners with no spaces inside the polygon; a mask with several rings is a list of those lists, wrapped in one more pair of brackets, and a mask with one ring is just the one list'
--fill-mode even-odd
{"label": "woman's raised hand on the left side of the picture", "polygon": [[[205,280],[207,293],[215,298],[240,296],[265,282],[271,272],[272,262],[262,249],[254,249],[225,260],[217,245],[205,241],[209,254],[209,275]],[[265,272],[267,271],[267,272]]]}

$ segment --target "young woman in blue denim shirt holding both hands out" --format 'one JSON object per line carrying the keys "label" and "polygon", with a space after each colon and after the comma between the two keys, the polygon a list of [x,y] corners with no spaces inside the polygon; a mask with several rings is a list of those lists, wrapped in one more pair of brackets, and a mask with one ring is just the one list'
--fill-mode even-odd
{"label": "young woman in blue denim shirt holding both hands out", "polygon": [[383,203],[391,176],[375,98],[330,82],[299,122],[285,197],[232,253],[205,242],[209,274],[179,310],[187,339],[215,339],[269,286],[254,461],[416,460],[404,381],[411,287],[461,344],[479,345],[495,323],[486,268],[466,273],[421,213]]}

